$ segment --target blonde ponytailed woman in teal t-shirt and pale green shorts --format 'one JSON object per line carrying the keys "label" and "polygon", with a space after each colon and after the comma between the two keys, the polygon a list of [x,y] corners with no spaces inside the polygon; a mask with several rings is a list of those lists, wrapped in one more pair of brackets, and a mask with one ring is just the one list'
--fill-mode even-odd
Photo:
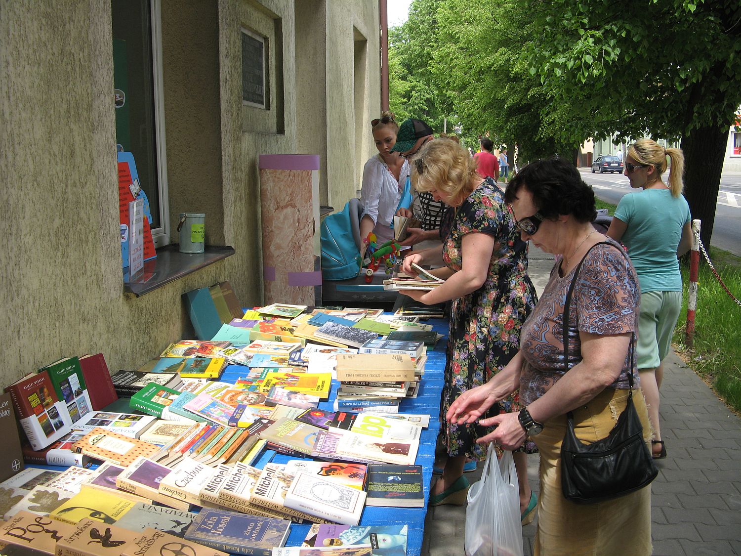
{"label": "blonde ponytailed woman in teal t-shirt and pale green shorts", "polygon": [[[661,179],[671,159],[668,185]],[[665,149],[652,139],[639,139],[628,149],[625,176],[642,189],[620,199],[607,235],[628,247],[641,285],[638,319],[638,371],[648,418],[654,429],[654,458],[666,457],[659,428],[662,361],[682,305],[679,257],[692,245],[690,208],[682,196],[682,150]]]}

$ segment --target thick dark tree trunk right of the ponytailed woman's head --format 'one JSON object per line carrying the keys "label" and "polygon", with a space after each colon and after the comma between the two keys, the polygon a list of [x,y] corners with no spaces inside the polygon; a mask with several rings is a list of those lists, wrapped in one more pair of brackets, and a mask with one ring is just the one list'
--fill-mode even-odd
{"label": "thick dark tree trunk right of the ponytailed woman's head", "polygon": [[725,159],[728,128],[704,127],[682,138],[685,155],[685,198],[692,219],[702,220],[700,239],[710,248],[715,210],[720,188],[720,173]]}

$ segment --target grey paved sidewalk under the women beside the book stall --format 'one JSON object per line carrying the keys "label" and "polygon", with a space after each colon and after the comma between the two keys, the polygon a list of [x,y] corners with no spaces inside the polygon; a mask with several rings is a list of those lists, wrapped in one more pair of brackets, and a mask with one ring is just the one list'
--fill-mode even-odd
{"label": "grey paved sidewalk under the women beside the book stall", "polygon": [[[540,293],[553,257],[531,246],[529,271]],[[654,555],[741,555],[741,419],[671,352],[661,388],[661,430],[668,457],[651,484]],[[528,477],[538,491],[537,454]],[[473,483],[480,471],[466,475]],[[536,520],[522,528],[532,554]],[[465,506],[428,512],[422,555],[462,556]]]}

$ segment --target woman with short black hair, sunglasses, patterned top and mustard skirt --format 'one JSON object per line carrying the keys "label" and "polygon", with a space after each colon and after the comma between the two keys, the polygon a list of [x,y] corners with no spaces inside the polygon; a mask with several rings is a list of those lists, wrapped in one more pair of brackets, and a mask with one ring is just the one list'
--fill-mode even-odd
{"label": "woman with short black hair, sunglasses, patterned top and mustard skirt", "polygon": [[[593,443],[608,436],[628,403],[640,295],[636,271],[617,242],[592,228],[594,193],[568,162],[539,160],[525,166],[511,180],[505,200],[522,239],[562,259],[522,326],[519,353],[488,383],[463,393],[448,411],[448,422],[496,426],[477,441],[505,449],[521,446],[528,436],[535,440],[541,458],[535,554],[651,554],[650,486],[579,505],[563,496],[559,462],[568,411],[574,414],[579,440]],[[525,406],[519,415],[481,418],[517,388]],[[648,443],[645,400],[638,390],[632,398]]]}

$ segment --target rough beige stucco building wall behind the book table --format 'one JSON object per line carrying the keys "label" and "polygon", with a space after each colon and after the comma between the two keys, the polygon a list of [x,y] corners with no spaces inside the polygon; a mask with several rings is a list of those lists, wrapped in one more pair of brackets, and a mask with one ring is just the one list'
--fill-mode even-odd
{"label": "rough beige stucco building wall behind the book table", "polygon": [[[122,285],[110,4],[0,2],[0,385],[98,351],[111,371],[138,368],[192,337],[181,296],[194,288],[228,279],[243,305],[261,303],[259,154],[297,153],[314,136],[327,157],[325,198],[341,208],[354,196],[373,145],[356,160],[354,130],[367,122],[354,116],[353,28],[368,38],[371,119],[380,105],[378,6],[320,5],[326,18],[312,24],[325,27],[311,36],[325,40],[324,79],[296,68],[293,0],[162,0],[170,237],[180,211],[202,208],[207,245],[236,254],[136,298]],[[245,130],[239,32],[255,10],[282,30],[285,133]],[[302,128],[298,88],[319,99],[325,130]]]}

